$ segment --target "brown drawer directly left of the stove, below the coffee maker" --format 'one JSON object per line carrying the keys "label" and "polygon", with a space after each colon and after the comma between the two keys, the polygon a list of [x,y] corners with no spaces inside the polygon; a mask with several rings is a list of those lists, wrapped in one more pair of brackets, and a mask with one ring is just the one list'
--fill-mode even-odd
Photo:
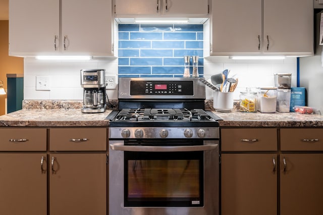
{"label": "brown drawer directly left of the stove, below the coffee maker", "polygon": [[105,151],[106,128],[51,128],[50,151]]}

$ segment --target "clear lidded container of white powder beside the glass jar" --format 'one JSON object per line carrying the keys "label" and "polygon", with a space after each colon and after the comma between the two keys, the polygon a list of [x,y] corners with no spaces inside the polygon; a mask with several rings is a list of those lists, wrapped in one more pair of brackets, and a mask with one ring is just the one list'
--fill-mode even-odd
{"label": "clear lidded container of white powder beside the glass jar", "polygon": [[261,113],[275,113],[277,87],[261,87],[257,92],[257,110]]}

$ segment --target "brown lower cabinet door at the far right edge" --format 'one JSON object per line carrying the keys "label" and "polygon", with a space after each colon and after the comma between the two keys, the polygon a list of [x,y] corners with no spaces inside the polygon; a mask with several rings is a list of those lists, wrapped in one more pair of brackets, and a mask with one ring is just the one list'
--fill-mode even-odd
{"label": "brown lower cabinet door at the far right edge", "polygon": [[323,154],[280,155],[281,215],[323,214],[322,164]]}

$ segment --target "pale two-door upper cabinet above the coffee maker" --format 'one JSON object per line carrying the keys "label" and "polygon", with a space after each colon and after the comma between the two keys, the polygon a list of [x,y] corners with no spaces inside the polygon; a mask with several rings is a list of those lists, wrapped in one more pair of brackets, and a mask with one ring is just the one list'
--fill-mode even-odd
{"label": "pale two-door upper cabinet above the coffee maker", "polygon": [[10,56],[113,55],[111,1],[10,0],[9,12]]}

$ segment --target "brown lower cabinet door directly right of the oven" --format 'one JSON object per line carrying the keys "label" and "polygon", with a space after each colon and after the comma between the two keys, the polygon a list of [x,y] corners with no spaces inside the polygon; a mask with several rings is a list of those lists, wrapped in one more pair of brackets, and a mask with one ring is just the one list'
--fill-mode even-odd
{"label": "brown lower cabinet door directly right of the oven", "polygon": [[277,154],[221,155],[222,215],[277,214],[273,159],[277,164]]}

